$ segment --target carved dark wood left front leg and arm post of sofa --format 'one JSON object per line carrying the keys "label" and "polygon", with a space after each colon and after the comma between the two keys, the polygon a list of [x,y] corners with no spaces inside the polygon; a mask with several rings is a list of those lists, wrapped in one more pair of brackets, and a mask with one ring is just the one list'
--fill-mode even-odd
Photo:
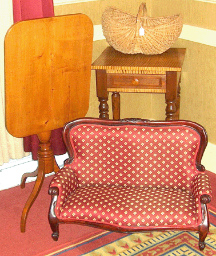
{"label": "carved dark wood left front leg and arm post of sofa", "polygon": [[55,215],[55,205],[58,198],[58,188],[50,188],[49,189],[49,195],[51,197],[51,203],[50,203],[50,211],[49,211],[49,223],[51,230],[53,231],[53,234],[51,234],[51,237],[54,241],[58,241],[59,236],[59,220],[57,219]]}

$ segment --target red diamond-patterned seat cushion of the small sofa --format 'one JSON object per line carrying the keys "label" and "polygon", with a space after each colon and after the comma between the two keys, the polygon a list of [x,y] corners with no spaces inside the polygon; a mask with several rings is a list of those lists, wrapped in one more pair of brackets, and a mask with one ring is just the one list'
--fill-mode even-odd
{"label": "red diamond-patterned seat cushion of the small sofa", "polygon": [[80,187],[63,203],[60,219],[127,228],[198,225],[194,197],[180,189]]}

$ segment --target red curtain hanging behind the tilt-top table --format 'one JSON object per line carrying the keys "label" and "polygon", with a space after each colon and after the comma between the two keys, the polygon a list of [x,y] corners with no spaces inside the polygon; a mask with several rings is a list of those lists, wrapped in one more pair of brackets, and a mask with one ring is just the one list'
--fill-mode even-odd
{"label": "red curtain hanging behind the tilt-top table", "polygon": [[[17,21],[46,18],[54,16],[53,0],[13,0],[14,23]],[[51,133],[51,147],[54,155],[65,154],[66,149],[62,141],[62,128]],[[33,160],[37,160],[39,139],[37,135],[24,138],[25,152],[31,152]]]}

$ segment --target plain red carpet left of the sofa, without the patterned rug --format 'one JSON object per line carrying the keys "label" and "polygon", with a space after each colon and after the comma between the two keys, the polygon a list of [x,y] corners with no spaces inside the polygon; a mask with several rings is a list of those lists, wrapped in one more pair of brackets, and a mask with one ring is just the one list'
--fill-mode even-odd
{"label": "plain red carpet left of the sofa, without the patterned rug", "polygon": [[0,191],[0,255],[32,256],[45,250],[69,242],[75,243],[85,236],[101,232],[91,227],[78,225],[61,225],[58,242],[51,238],[51,229],[47,219],[50,204],[48,187],[51,177],[45,178],[41,192],[29,211],[26,232],[20,231],[22,209],[33,188],[34,183],[27,183],[26,188],[14,187]]}

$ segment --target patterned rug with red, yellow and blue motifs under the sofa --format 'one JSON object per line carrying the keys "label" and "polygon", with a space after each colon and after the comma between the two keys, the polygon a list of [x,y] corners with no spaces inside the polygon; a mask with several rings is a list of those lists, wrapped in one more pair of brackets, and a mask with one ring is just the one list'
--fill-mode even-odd
{"label": "patterned rug with red, yellow and blue motifs under the sofa", "polygon": [[[118,234],[98,231],[95,236],[86,237],[76,244],[65,244],[37,256],[215,256],[216,214],[210,212],[213,220],[206,248],[198,248],[198,234],[194,232],[149,232],[140,234]],[[36,255],[35,255],[36,256]]]}

